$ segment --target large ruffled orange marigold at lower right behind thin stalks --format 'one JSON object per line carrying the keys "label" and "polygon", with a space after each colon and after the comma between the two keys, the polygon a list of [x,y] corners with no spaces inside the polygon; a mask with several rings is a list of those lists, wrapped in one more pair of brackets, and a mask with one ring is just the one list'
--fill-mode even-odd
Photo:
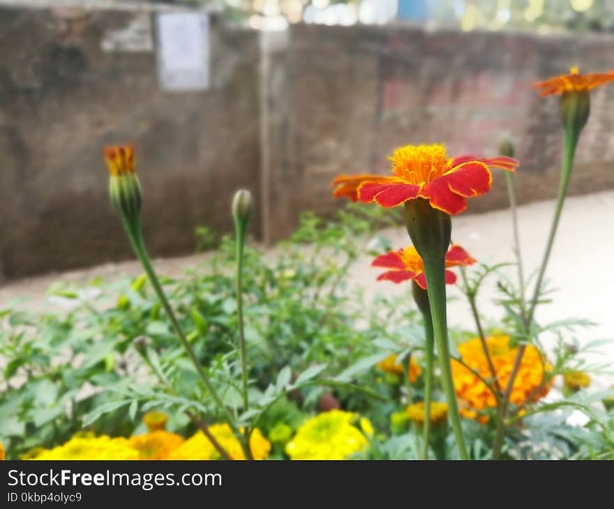
{"label": "large ruffled orange marigold at lower right behind thin stalks", "polygon": [[[504,388],[509,381],[514,360],[516,354],[518,354],[518,347],[511,348],[509,346],[509,336],[507,335],[486,337],[486,345],[493,361],[499,385]],[[488,361],[478,337],[459,345],[458,353],[461,354],[463,362],[479,373],[482,378],[486,380],[492,378]],[[532,402],[536,402],[548,394],[552,386],[552,379],[546,383],[544,383],[544,380],[551,369],[552,366],[546,362],[539,350],[532,345],[527,345],[518,374],[514,380],[514,386],[511,389],[510,402],[520,406],[527,402],[528,398],[531,398]],[[452,361],[452,376],[454,377],[456,396],[461,403],[461,415],[467,418],[478,418],[482,423],[486,422],[488,418],[479,416],[477,411],[496,407],[495,395],[483,381],[456,360]],[[544,383],[544,386],[540,387],[542,383]]]}

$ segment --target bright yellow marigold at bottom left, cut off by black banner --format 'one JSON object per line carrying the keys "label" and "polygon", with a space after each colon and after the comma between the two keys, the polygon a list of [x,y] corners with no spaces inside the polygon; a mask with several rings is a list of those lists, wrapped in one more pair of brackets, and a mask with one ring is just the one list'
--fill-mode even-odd
{"label": "bright yellow marigold at bottom left, cut off by black banner", "polygon": [[139,459],[139,452],[123,438],[73,436],[62,446],[42,450],[31,459]]}

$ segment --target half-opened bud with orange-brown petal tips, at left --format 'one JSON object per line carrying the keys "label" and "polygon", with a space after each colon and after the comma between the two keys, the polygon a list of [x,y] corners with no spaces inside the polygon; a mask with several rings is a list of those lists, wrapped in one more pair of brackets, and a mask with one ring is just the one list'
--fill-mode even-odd
{"label": "half-opened bud with orange-brown petal tips, at left", "polygon": [[137,218],[141,211],[141,185],[135,173],[132,145],[107,146],[105,161],[110,173],[109,195],[113,207],[123,218]]}

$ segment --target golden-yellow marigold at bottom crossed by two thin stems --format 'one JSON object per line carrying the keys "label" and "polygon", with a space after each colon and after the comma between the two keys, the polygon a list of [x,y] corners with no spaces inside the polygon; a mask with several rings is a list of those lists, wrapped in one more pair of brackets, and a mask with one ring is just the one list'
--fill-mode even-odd
{"label": "golden-yellow marigold at bottom crossed by two thin stems", "polygon": [[[232,459],[245,459],[241,443],[234,436],[229,425],[214,424],[209,426],[209,431]],[[267,459],[271,452],[271,442],[265,439],[260,430],[256,428],[250,437],[250,448],[254,459]],[[207,436],[199,431],[174,449],[169,459],[220,459],[220,455]]]}

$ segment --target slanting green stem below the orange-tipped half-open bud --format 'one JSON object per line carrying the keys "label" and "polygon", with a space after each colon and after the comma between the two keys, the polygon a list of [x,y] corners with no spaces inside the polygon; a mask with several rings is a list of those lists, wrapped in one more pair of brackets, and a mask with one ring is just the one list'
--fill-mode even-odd
{"label": "slanting green stem below the orange-tipped half-open bud", "polygon": [[128,234],[128,238],[130,239],[130,243],[133,246],[135,254],[137,255],[139,261],[141,262],[145,270],[145,273],[147,273],[147,276],[149,277],[149,281],[151,282],[153,289],[156,291],[156,294],[158,295],[158,299],[160,300],[160,303],[164,307],[164,310],[166,311],[166,314],[168,315],[171,321],[171,324],[172,324],[172,327],[174,328],[175,333],[177,333],[179,340],[181,340],[181,344],[183,344],[184,349],[186,349],[188,356],[190,356],[190,359],[192,360],[192,363],[194,364],[194,367],[198,375],[200,376],[200,379],[202,379],[204,385],[207,387],[207,390],[209,390],[209,393],[211,394],[211,397],[213,398],[218,409],[220,409],[220,411],[224,414],[228,425],[230,425],[230,427],[234,430],[236,434],[238,430],[237,430],[237,427],[234,425],[234,420],[232,419],[232,416],[230,416],[230,412],[227,410],[227,408],[223,404],[221,398],[219,397],[217,391],[215,390],[213,384],[211,383],[211,380],[207,376],[207,373],[205,373],[204,370],[202,369],[202,365],[200,365],[200,361],[198,360],[194,350],[190,346],[190,342],[188,342],[188,339],[186,338],[184,331],[181,329],[181,326],[179,326],[179,321],[177,320],[177,317],[175,317],[172,307],[170,306],[170,303],[168,302],[168,299],[164,293],[162,285],[160,284],[160,281],[158,280],[158,276],[156,275],[156,272],[153,270],[153,266],[151,266],[151,261],[149,261],[149,255],[147,254],[147,250],[145,249],[145,245],[143,241],[140,221],[138,220],[138,218],[133,221],[130,221],[124,218],[122,218],[122,220],[123,220],[123,226],[126,228],[126,233]]}

